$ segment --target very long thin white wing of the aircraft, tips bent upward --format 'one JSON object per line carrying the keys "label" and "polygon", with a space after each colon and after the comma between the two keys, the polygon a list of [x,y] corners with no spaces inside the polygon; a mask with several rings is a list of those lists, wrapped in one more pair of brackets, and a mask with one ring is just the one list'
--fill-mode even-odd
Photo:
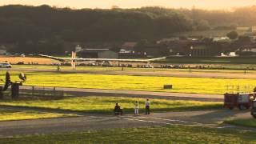
{"label": "very long thin white wing of the aircraft, tips bent upward", "polygon": [[61,62],[66,62],[66,61],[113,61],[113,62],[154,62],[158,61],[161,59],[166,59],[166,57],[162,58],[150,58],[150,59],[116,59],[116,58],[58,58],[58,57],[53,57],[50,55],[44,55],[44,54],[38,54],[41,57],[44,58],[51,58],[55,59]]}

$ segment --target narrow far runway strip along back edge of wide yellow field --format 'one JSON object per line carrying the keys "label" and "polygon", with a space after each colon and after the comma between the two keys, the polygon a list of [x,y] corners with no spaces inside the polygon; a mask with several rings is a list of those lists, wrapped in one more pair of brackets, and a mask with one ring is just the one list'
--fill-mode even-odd
{"label": "narrow far runway strip along back edge of wide yellow field", "polygon": [[[34,72],[54,72],[56,70],[42,69],[2,69],[14,71],[34,71]],[[162,77],[183,77],[183,78],[238,78],[238,79],[254,79],[256,74],[241,73],[220,73],[220,72],[182,72],[182,71],[114,71],[114,70],[62,70],[58,73],[82,73],[82,74],[111,74],[111,75],[138,75],[138,76],[162,76]]]}

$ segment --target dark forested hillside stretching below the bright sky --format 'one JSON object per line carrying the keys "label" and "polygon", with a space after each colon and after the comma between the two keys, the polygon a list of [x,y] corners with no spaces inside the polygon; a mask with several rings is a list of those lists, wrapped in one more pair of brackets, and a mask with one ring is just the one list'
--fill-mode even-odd
{"label": "dark forested hillside stretching below the bright sky", "polygon": [[207,30],[210,26],[253,26],[255,14],[256,6],[232,12],[161,7],[74,10],[46,5],[0,6],[0,42],[14,44],[17,52],[62,54],[64,42],[152,40],[188,30]]}

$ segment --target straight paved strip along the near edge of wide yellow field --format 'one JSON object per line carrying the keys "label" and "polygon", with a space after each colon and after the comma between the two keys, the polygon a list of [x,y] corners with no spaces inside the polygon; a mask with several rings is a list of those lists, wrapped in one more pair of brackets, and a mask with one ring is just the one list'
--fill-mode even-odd
{"label": "straight paved strip along the near edge of wide yellow field", "polygon": [[[22,86],[23,90],[31,90],[31,86]],[[45,90],[52,90],[45,88]],[[185,93],[167,93],[167,92],[150,92],[150,91],[133,91],[133,90],[102,90],[102,89],[82,89],[56,87],[56,90],[63,90],[68,94],[74,95],[99,95],[112,97],[131,97],[131,98],[165,98],[178,100],[210,101],[223,102],[223,95],[218,94],[185,94]]]}

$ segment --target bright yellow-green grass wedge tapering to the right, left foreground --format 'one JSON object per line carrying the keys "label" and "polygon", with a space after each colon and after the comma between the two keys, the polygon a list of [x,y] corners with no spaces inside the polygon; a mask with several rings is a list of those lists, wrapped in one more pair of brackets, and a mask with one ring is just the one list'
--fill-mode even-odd
{"label": "bright yellow-green grass wedge tapering to the right, left foreground", "polygon": [[58,114],[51,112],[38,112],[33,110],[0,109],[0,121],[38,119],[38,118],[60,118],[77,116],[77,114]]}

